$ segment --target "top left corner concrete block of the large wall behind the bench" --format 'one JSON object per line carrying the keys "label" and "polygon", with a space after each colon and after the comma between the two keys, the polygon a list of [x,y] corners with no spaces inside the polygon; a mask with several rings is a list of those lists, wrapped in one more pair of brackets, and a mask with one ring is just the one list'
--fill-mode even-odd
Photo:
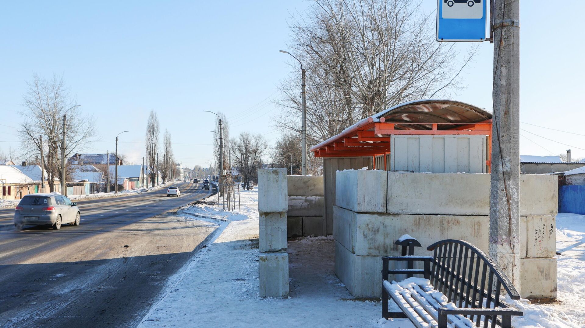
{"label": "top left corner concrete block of the large wall behind the bench", "polygon": [[354,212],[386,212],[386,183],[383,170],[338,171],[335,205]]}

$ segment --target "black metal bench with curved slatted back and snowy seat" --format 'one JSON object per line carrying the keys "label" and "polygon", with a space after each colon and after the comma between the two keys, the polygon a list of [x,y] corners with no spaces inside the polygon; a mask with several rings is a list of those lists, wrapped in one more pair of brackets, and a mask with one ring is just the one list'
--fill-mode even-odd
{"label": "black metal bench with curved slatted back and snowy seat", "polygon": [[[402,246],[402,256],[382,258],[384,318],[406,317],[421,328],[507,328],[511,327],[512,316],[523,315],[501,299],[502,288],[511,299],[520,298],[508,277],[470,243],[441,240],[426,248],[434,251],[433,256],[414,256],[414,247],[421,244],[410,236],[403,236],[395,244]],[[406,261],[407,268],[389,270],[390,261]],[[423,263],[422,269],[414,268],[416,261]],[[390,282],[389,274],[406,274],[408,278]],[[401,312],[388,312],[388,298]]]}

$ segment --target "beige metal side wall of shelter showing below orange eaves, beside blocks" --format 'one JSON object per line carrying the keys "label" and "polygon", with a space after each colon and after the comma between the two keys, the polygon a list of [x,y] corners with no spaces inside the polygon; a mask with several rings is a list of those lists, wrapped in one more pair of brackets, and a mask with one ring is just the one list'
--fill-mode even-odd
{"label": "beige metal side wall of shelter showing below orange eaves, beside blocks", "polygon": [[333,205],[335,205],[335,181],[338,170],[354,169],[364,167],[373,168],[371,156],[364,157],[325,157],[323,158],[323,184],[325,203],[325,230],[328,235],[333,233]]}

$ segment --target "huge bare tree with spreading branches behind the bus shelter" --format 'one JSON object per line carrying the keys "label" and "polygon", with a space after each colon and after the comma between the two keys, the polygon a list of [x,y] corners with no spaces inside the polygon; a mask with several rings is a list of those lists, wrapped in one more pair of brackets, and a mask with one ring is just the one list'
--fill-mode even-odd
{"label": "huge bare tree with spreading branches behind the bus shelter", "polygon": [[[477,47],[459,62],[453,44],[435,41],[433,19],[413,0],[315,0],[292,17],[290,48],[307,69],[308,144],[393,104],[463,88],[459,74]],[[280,86],[283,130],[301,131],[298,81]]]}

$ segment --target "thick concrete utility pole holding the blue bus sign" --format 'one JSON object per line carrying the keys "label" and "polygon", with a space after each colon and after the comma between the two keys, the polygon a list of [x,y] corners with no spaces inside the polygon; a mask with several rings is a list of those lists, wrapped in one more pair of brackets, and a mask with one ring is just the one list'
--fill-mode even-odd
{"label": "thick concrete utility pole holding the blue bus sign", "polygon": [[520,288],[520,1],[494,0],[490,256]]}

